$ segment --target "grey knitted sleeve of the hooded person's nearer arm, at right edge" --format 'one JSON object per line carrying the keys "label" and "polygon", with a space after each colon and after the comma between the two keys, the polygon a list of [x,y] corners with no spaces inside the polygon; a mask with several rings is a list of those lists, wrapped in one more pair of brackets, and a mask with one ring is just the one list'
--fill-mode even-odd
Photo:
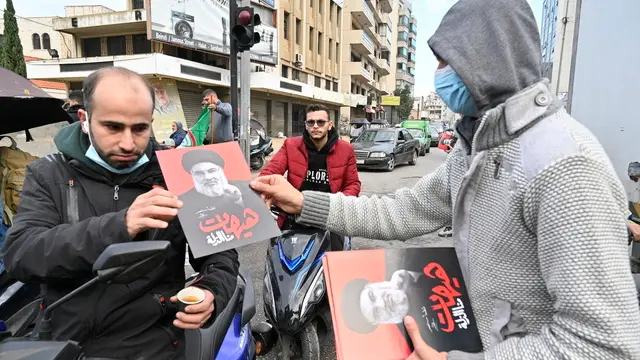
{"label": "grey knitted sleeve of the hooded person's nearer arm, at right edge", "polygon": [[[540,270],[555,314],[537,333],[492,347],[487,360],[640,359],[626,194],[610,173],[595,160],[571,155],[534,178],[523,216],[538,235]],[[477,356],[452,352],[449,359]]]}

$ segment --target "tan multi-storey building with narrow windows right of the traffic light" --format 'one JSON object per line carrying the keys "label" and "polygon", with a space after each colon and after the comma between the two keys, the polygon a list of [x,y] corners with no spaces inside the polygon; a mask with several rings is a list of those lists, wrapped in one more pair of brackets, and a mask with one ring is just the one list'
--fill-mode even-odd
{"label": "tan multi-storey building with narrow windows right of the traffic light", "polygon": [[[280,76],[283,79],[312,89],[324,89],[345,99],[339,83],[342,7],[339,0],[278,1]],[[293,101],[292,134],[305,131],[305,107],[310,102],[311,99]],[[338,122],[340,106],[330,109],[330,118]]]}

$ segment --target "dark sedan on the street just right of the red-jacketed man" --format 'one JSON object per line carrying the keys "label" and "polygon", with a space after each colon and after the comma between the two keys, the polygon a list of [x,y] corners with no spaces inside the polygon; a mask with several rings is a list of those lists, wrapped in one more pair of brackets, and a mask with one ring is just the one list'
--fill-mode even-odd
{"label": "dark sedan on the street just right of the red-jacketed man", "polygon": [[407,129],[368,129],[353,142],[353,148],[359,169],[393,171],[399,163],[418,162],[420,142]]}

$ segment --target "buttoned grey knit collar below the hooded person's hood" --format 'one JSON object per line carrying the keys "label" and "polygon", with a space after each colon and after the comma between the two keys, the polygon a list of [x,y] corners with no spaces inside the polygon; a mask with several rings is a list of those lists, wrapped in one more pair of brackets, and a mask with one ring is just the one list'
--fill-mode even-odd
{"label": "buttoned grey knit collar below the hooded person's hood", "polygon": [[562,102],[543,79],[487,111],[474,135],[475,151],[488,150],[520,136],[540,120],[555,114]]}

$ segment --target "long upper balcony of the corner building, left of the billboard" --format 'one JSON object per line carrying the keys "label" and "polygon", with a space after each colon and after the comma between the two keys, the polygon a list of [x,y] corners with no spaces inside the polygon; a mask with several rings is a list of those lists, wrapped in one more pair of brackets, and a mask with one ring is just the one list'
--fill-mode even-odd
{"label": "long upper balcony of the corner building, left of the billboard", "polygon": [[53,29],[81,36],[144,32],[147,29],[147,12],[128,10],[54,18]]}

